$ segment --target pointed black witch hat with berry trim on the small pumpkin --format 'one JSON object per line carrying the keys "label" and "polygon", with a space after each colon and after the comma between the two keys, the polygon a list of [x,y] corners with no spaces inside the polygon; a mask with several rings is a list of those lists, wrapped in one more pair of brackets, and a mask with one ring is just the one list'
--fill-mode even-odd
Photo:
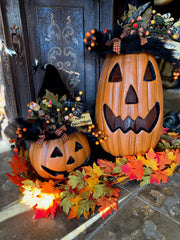
{"label": "pointed black witch hat with berry trim on the small pumpkin", "polygon": [[71,118],[79,117],[84,111],[82,91],[72,96],[55,66],[47,64],[43,69],[45,74],[38,98],[36,102],[27,104],[27,119],[15,120],[17,148],[24,140],[37,141],[42,145],[45,140],[76,132],[77,129],[71,127]]}

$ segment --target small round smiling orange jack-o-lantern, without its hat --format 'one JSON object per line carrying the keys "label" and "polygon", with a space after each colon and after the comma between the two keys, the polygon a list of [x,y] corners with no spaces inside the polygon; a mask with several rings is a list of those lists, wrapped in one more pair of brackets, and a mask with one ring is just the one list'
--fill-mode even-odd
{"label": "small round smiling orange jack-o-lantern, without its hat", "polygon": [[30,162],[44,179],[62,180],[74,169],[85,165],[90,157],[90,147],[83,133],[75,132],[63,143],[61,138],[37,142],[29,149]]}

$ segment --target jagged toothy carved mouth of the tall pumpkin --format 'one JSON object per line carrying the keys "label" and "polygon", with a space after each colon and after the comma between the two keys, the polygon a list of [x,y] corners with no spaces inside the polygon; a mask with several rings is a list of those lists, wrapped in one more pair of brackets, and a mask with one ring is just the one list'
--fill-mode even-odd
{"label": "jagged toothy carved mouth of the tall pumpkin", "polygon": [[121,116],[114,116],[114,113],[107,104],[104,104],[103,112],[106,123],[111,132],[121,129],[123,133],[127,133],[130,130],[135,133],[139,133],[142,130],[150,133],[156,126],[159,119],[160,105],[156,102],[144,119],[138,116],[135,120],[133,120],[130,116],[128,116],[122,120]]}

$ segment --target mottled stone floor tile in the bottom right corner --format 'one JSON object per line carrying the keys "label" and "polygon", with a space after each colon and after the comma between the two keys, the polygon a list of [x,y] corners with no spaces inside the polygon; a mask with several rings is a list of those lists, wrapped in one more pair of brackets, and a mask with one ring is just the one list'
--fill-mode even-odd
{"label": "mottled stone floor tile in the bottom right corner", "polygon": [[135,198],[89,239],[108,240],[112,235],[115,240],[178,240],[179,234],[178,223]]}

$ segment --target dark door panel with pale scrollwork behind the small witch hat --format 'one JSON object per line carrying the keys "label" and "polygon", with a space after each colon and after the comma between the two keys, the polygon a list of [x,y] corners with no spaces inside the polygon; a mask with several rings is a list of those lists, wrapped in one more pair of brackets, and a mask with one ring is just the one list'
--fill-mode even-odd
{"label": "dark door panel with pale scrollwork behind the small witch hat", "polygon": [[[24,0],[31,63],[53,64],[67,87],[81,89],[92,108],[95,99],[96,56],[85,51],[84,33],[99,27],[99,1]],[[42,70],[33,78],[35,96]]]}

